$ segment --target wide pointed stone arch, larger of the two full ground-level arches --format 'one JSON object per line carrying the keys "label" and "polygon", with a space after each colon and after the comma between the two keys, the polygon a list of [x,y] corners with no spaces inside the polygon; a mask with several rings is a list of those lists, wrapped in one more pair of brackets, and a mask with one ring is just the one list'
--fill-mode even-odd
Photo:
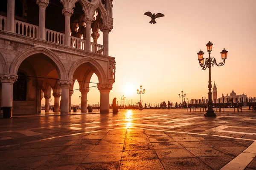
{"label": "wide pointed stone arch, larger of the two full ground-level arches", "polygon": [[56,64],[55,69],[58,72],[59,79],[67,79],[67,73],[64,67],[64,63],[62,63],[61,59],[51,50],[41,46],[32,47],[20,52],[12,61],[9,72],[17,75],[20,64],[29,56],[39,53],[46,55]]}

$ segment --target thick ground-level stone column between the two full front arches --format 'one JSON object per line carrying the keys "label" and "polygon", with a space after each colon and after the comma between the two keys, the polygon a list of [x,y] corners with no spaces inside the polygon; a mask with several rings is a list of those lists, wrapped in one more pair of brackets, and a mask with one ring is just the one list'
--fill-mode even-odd
{"label": "thick ground-level stone column between the two full front arches", "polygon": [[71,80],[59,80],[58,85],[61,86],[61,115],[68,114],[69,105],[69,88],[73,84]]}

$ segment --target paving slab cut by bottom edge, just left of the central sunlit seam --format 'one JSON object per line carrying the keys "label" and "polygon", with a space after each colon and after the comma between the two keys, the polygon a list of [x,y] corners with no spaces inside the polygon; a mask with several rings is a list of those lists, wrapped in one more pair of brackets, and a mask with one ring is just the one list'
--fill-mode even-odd
{"label": "paving slab cut by bottom edge, just left of the central sunlit seam", "polygon": [[76,170],[119,170],[120,161],[80,164]]}

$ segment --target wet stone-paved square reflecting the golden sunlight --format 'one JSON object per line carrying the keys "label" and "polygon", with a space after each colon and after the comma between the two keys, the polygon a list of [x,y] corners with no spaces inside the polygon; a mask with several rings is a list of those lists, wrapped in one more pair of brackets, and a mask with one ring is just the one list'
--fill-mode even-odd
{"label": "wet stone-paved square reflecting the golden sunlight", "polygon": [[0,169],[256,169],[256,113],[186,109],[0,119]]}

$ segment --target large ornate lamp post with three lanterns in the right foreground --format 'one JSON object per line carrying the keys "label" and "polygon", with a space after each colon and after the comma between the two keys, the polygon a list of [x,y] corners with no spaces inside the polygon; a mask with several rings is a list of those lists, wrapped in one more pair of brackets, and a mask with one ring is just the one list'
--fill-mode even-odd
{"label": "large ornate lamp post with three lanterns in the right foreground", "polygon": [[208,84],[208,88],[209,88],[209,92],[208,92],[208,99],[209,101],[207,102],[208,105],[208,109],[206,111],[206,113],[204,113],[205,117],[216,117],[216,114],[214,113],[214,110],[212,108],[212,80],[211,80],[211,67],[216,65],[216,66],[223,66],[225,64],[225,60],[227,59],[227,50],[223,49],[221,51],[221,59],[223,60],[223,62],[217,63],[215,58],[211,58],[211,51],[212,51],[212,43],[209,41],[209,43],[206,44],[207,46],[207,52],[209,53],[209,57],[205,59],[205,64],[204,64],[204,52],[202,52],[202,50],[200,50],[200,52],[197,53],[198,55],[198,61],[199,61],[199,66],[201,66],[201,68],[203,70],[207,69],[207,67],[209,68],[209,84]]}

